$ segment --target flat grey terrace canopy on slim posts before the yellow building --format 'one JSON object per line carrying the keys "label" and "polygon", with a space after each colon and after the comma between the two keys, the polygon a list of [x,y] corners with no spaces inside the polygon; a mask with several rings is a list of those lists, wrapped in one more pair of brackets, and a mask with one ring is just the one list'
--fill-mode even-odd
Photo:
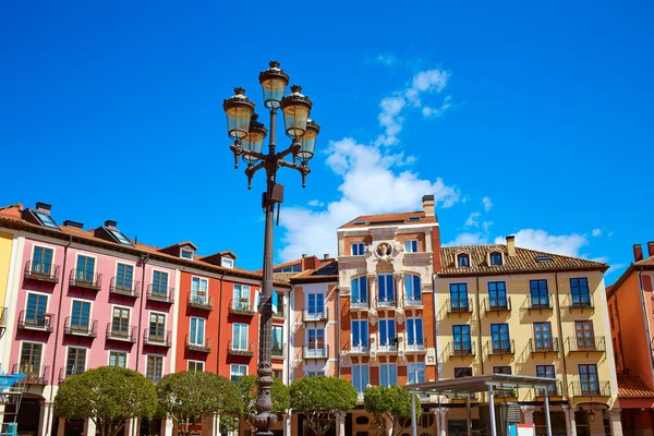
{"label": "flat grey terrace canopy on slim posts before the yellow building", "polygon": [[[470,397],[477,392],[488,392],[488,408],[491,409],[491,434],[497,436],[495,425],[495,390],[517,389],[517,388],[536,388],[543,389],[543,400],[545,402],[545,424],[547,425],[547,436],[552,436],[552,423],[549,422],[549,400],[547,398],[548,388],[556,386],[556,378],[530,377],[522,375],[492,374],[479,375],[473,377],[448,378],[438,382],[415,383],[404,386],[411,393],[415,395],[437,395],[451,398],[464,398],[468,409],[468,436],[472,436],[472,417],[470,414]],[[415,423],[415,396],[411,396],[411,434],[417,435]]]}

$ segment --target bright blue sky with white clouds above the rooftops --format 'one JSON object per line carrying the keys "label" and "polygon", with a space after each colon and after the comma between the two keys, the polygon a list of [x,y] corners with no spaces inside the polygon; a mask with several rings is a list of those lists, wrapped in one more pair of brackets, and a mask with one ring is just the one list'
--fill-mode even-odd
{"label": "bright blue sky with white clouds above the rooftops", "polygon": [[307,187],[280,172],[277,261],[429,193],[444,242],[516,233],[608,282],[654,239],[651,3],[243,4],[4,2],[0,204],[259,268],[263,180],[233,169],[221,104],[262,107],[278,59],[323,130]]}

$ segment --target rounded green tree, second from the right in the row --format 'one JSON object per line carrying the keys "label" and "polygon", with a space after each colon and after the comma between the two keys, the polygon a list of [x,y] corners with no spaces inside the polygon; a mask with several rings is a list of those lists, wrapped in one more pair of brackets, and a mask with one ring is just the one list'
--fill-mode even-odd
{"label": "rounded green tree, second from the right in the row", "polygon": [[337,413],[356,407],[356,389],[337,377],[300,378],[291,384],[290,391],[293,412],[304,414],[308,426],[318,436],[331,428]]}

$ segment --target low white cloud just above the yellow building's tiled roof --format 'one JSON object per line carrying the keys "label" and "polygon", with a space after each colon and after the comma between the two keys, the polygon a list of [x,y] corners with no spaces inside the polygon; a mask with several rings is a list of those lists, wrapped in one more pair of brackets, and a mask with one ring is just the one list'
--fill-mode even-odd
{"label": "low white cloud just above the yellow building's tiled roof", "polygon": [[[581,247],[589,243],[585,235],[577,233],[557,235],[545,230],[522,229],[514,234],[517,246],[572,257],[581,257]],[[505,242],[505,238],[495,239],[496,244]]]}

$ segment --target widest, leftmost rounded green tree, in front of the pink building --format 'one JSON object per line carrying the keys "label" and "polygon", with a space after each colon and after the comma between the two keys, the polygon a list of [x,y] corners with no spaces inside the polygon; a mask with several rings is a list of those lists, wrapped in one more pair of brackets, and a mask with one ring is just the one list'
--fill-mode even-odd
{"label": "widest, leftmost rounded green tree, in front of the pink building", "polygon": [[118,366],[72,376],[55,397],[58,417],[88,419],[101,436],[116,436],[129,420],[152,419],[156,410],[155,385],[142,374]]}

